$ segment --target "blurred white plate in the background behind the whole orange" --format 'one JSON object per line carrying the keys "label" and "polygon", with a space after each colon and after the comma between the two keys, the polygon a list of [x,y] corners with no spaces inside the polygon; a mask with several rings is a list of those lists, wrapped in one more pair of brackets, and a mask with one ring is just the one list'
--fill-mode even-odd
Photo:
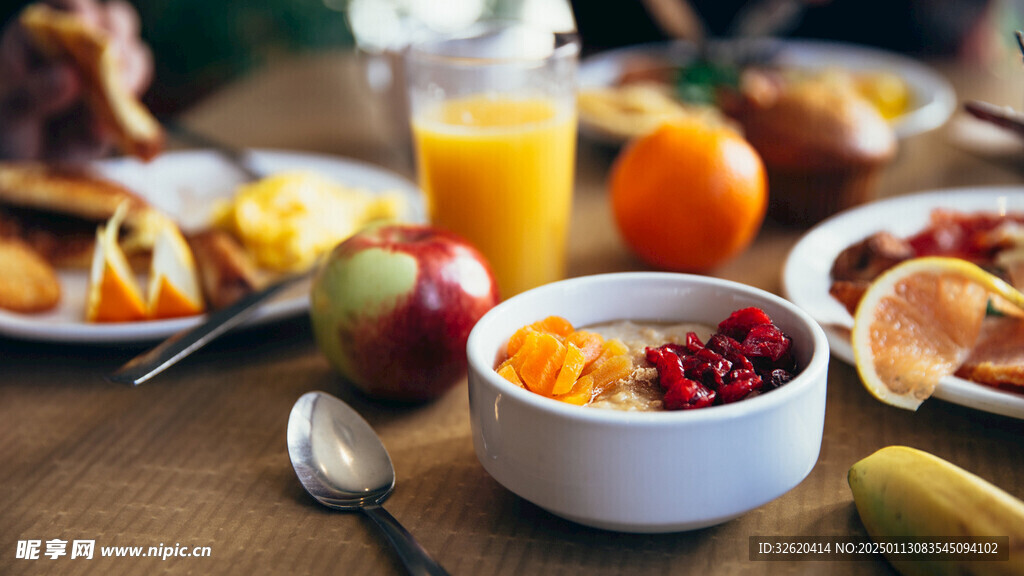
{"label": "blurred white plate in the background behind the whole orange", "polygon": [[[844,68],[850,71],[888,72],[906,82],[912,93],[912,104],[904,114],[893,119],[893,130],[901,138],[938,128],[956,110],[956,93],[949,82],[937,72],[912,58],[854,44],[810,40],[752,40],[741,48],[735,43],[722,43],[728,49],[752,49],[764,45],[772,50],[775,64],[800,68]],[[657,57],[677,65],[693,59],[695,48],[688,42],[641,44],[608,50],[585,58],[580,65],[580,87],[599,88],[613,85],[627,63],[637,57]],[[581,130],[605,141],[610,136],[580,119]]]}

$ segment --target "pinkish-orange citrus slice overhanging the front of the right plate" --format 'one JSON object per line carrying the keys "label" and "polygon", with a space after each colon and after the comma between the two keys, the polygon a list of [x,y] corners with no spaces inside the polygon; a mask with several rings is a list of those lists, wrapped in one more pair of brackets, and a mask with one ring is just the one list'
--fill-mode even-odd
{"label": "pinkish-orange citrus slice overhanging the front of the right plate", "polygon": [[864,386],[882,402],[916,410],[967,360],[993,294],[1024,310],[1024,294],[958,258],[914,258],[887,271],[854,315]]}

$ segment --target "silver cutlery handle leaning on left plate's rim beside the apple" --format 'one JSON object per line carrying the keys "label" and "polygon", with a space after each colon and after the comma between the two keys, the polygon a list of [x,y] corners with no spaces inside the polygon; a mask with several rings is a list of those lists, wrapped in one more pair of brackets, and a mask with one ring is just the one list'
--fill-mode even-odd
{"label": "silver cutlery handle leaning on left plate's rim beside the apple", "polygon": [[210,343],[214,338],[242,324],[259,310],[259,304],[285,288],[310,278],[313,271],[287,276],[240,298],[233,304],[214,311],[206,321],[174,334],[153,349],[142,353],[106,376],[111,382],[137,386],[174,366],[188,355]]}

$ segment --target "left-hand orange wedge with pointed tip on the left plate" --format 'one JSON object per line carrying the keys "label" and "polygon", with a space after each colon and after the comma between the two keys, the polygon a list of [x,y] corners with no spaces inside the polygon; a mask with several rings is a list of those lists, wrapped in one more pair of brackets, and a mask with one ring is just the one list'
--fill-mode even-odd
{"label": "left-hand orange wedge with pointed tip on the left plate", "polygon": [[87,322],[134,322],[145,319],[145,302],[128,258],[118,245],[118,231],[127,205],[122,204],[105,225],[96,231],[89,287]]}

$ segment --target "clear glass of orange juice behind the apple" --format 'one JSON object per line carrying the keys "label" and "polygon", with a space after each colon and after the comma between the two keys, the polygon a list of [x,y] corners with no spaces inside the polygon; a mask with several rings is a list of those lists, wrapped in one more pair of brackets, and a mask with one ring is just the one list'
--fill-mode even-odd
{"label": "clear glass of orange juice behind the apple", "polygon": [[503,297],[565,277],[579,52],[574,35],[485,25],[407,55],[430,221],[486,256]]}

